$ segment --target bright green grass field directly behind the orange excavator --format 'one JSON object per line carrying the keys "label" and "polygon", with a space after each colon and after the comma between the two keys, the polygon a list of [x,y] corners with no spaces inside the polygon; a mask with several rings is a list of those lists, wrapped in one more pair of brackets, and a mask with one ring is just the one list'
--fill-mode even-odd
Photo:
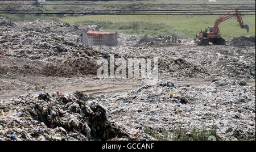
{"label": "bright green grass field directly behind the orange excavator", "polygon": [[[110,32],[122,32],[139,35],[176,35],[180,38],[195,37],[196,32],[213,26],[220,16],[171,16],[171,15],[86,15],[60,18],[63,22],[79,24],[97,24],[100,29]],[[241,29],[236,19],[221,23],[223,37],[255,35],[255,15],[243,16],[250,32]]]}

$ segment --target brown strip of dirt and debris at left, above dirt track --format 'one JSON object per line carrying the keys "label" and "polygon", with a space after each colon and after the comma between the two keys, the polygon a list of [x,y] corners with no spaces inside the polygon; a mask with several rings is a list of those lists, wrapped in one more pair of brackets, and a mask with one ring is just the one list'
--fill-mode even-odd
{"label": "brown strip of dirt and debris at left, above dirt track", "polygon": [[[8,59],[7,59],[8,60]],[[3,63],[7,60],[3,60]],[[1,62],[0,62],[1,63]],[[97,66],[93,61],[73,60],[70,62],[46,64],[44,62],[21,61],[0,65],[0,75],[43,75],[46,77],[73,77],[79,75],[96,75]]]}

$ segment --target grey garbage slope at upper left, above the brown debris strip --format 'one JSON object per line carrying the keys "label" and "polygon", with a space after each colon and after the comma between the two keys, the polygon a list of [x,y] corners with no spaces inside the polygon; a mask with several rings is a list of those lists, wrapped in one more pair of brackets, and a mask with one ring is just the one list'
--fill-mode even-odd
{"label": "grey garbage slope at upper left, above the brown debris strip", "polygon": [[[70,23],[36,20],[35,22],[15,23],[9,27],[9,20],[0,19],[1,52],[9,56],[57,62],[73,59],[90,60],[97,56],[88,45],[76,44],[82,30],[96,30],[97,26],[81,26]],[[1,53],[0,53],[1,54]]]}

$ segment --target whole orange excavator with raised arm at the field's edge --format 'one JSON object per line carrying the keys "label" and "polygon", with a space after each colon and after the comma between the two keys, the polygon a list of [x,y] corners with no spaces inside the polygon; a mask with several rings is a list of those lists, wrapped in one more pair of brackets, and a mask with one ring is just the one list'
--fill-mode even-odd
{"label": "whole orange excavator with raised arm at the field's edge", "polygon": [[[232,11],[233,12],[233,11]],[[213,44],[224,44],[225,39],[222,39],[219,25],[221,22],[233,18],[234,16],[237,17],[237,21],[240,24],[241,28],[245,28],[247,32],[249,32],[249,26],[247,24],[243,24],[241,12],[237,9],[234,12],[229,12],[228,14],[221,16],[221,18],[217,19],[214,26],[208,27],[205,31],[198,32],[196,35],[196,43],[199,45],[209,45],[209,43]]]}

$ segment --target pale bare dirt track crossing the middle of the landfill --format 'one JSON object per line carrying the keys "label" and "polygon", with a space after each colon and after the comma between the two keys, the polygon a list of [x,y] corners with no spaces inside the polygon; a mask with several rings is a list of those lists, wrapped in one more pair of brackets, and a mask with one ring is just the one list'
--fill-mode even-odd
{"label": "pale bare dirt track crossing the middle of the landfill", "polygon": [[[185,80],[170,79],[177,86],[199,86],[209,85],[213,78],[202,79],[193,78]],[[63,94],[69,94],[75,91],[85,92],[88,95],[122,92],[135,90],[145,85],[138,80],[131,82],[98,80],[96,77],[75,77],[75,78],[56,78],[56,77],[26,77],[26,78],[0,78],[0,100],[18,98],[20,95],[40,94],[48,92],[49,94],[59,91]],[[255,81],[248,81],[247,85],[255,86]]]}

